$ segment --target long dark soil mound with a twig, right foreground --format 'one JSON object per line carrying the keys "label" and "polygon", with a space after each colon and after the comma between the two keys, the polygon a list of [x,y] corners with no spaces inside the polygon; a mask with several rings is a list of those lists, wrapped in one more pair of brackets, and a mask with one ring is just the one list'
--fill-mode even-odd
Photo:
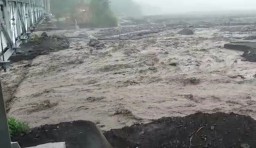
{"label": "long dark soil mound with a twig, right foreground", "polygon": [[114,148],[256,147],[256,122],[235,114],[164,118],[147,125],[112,130],[105,135]]}

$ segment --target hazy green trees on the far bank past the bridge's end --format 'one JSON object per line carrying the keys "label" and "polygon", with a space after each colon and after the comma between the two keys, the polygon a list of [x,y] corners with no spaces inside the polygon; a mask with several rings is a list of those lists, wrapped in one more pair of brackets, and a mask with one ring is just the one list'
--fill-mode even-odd
{"label": "hazy green trees on the far bank past the bridge's end", "polygon": [[51,11],[56,18],[68,17],[80,4],[87,4],[91,11],[89,24],[93,27],[111,27],[117,25],[109,0],[51,0]]}

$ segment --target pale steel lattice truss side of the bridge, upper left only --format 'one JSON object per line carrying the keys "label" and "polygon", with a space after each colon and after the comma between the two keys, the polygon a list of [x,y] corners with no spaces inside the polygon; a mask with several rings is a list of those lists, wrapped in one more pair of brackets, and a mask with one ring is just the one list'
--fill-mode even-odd
{"label": "pale steel lattice truss side of the bridge, upper left only", "polygon": [[47,12],[49,0],[0,0],[0,64],[8,59]]}

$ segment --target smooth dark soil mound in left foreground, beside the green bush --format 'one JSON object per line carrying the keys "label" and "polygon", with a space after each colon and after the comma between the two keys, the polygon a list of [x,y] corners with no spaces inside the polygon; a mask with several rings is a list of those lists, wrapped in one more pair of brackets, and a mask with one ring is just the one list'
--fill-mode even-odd
{"label": "smooth dark soil mound in left foreground, beside the green bush", "polygon": [[12,140],[18,141],[21,147],[65,141],[67,148],[111,148],[96,125],[89,121],[45,125]]}

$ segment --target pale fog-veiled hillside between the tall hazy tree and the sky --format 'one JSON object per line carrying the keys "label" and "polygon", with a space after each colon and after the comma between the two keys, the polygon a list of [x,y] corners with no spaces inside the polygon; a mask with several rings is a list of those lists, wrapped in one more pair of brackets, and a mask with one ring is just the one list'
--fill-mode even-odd
{"label": "pale fog-veiled hillside between the tall hazy tree and the sky", "polygon": [[110,0],[110,5],[116,15],[129,17],[142,16],[141,7],[133,0]]}

